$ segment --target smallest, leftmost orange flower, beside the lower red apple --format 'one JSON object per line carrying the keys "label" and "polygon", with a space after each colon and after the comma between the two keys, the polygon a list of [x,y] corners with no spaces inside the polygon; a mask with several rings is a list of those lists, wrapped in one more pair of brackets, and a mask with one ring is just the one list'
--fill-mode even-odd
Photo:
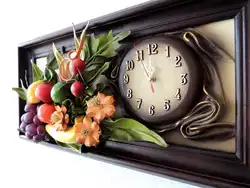
{"label": "smallest, leftmost orange flower, beside the lower red apple", "polygon": [[66,112],[66,107],[62,105],[62,107],[56,106],[56,111],[51,114],[50,120],[57,131],[64,131],[67,128],[69,115]]}

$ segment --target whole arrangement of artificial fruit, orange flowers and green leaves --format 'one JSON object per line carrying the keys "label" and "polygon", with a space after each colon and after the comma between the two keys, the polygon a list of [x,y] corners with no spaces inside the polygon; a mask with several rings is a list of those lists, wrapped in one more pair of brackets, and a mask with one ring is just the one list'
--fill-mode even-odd
{"label": "whole arrangement of artificial fruit, orange flowers and green leaves", "polygon": [[147,141],[167,147],[164,139],[140,122],[116,115],[114,94],[108,94],[110,71],[114,66],[119,41],[130,32],[113,36],[112,31],[95,37],[87,35],[88,24],[80,39],[73,27],[75,50],[62,54],[52,44],[44,71],[32,61],[32,83],[13,88],[26,101],[19,131],[35,142],[54,142],[81,152],[100,142]]}

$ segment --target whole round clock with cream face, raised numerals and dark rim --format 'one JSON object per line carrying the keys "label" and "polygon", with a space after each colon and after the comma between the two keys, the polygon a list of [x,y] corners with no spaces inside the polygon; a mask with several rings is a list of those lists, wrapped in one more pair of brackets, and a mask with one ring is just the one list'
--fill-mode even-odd
{"label": "whole round clock with cream face, raised numerals and dark rim", "polygon": [[171,123],[187,114],[196,101],[200,75],[199,62],[185,43],[151,38],[125,55],[119,88],[134,116],[148,123]]}

